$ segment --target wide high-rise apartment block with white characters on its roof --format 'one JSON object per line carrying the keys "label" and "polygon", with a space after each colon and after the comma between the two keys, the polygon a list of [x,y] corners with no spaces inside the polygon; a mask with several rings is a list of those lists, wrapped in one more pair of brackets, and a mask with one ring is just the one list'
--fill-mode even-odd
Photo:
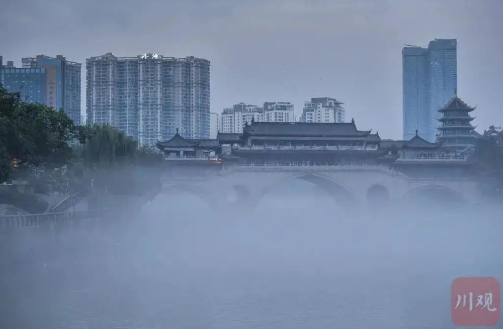
{"label": "wide high-rise apartment block with white characters on its roof", "polygon": [[143,54],[91,57],[87,66],[87,121],[110,124],[140,144],[210,136],[210,62]]}

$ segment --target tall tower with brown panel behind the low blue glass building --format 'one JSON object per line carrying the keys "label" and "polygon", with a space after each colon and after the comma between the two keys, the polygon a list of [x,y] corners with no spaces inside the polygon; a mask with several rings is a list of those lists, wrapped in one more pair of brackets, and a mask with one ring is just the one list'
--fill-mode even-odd
{"label": "tall tower with brown panel behind the low blue glass building", "polygon": [[75,124],[79,124],[81,64],[68,61],[62,55],[25,57],[21,64],[23,68],[45,70],[45,104],[62,108]]}

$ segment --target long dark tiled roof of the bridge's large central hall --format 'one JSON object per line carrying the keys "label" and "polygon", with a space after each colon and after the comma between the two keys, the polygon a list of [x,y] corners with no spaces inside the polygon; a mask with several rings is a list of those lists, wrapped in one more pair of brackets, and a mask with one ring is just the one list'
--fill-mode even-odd
{"label": "long dark tiled roof of the bridge's large central hall", "polygon": [[243,128],[243,134],[246,135],[278,137],[366,137],[370,132],[357,130],[354,122],[253,122]]}

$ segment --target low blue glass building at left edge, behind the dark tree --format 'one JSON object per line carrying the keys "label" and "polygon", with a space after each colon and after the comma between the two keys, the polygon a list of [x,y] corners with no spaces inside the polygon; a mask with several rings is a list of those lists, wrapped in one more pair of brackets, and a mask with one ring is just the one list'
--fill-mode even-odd
{"label": "low blue glass building at left edge, behind the dark tree", "polygon": [[20,92],[21,98],[32,103],[46,103],[46,75],[44,68],[20,68],[13,62],[3,65],[0,56],[0,84],[11,92]]}

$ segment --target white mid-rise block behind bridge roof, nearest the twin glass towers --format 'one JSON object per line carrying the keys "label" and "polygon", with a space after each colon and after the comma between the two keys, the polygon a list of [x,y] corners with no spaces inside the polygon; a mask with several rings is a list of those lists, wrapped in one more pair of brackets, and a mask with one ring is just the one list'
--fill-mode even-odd
{"label": "white mid-rise block behind bridge roof, nearest the twin glass towers", "polygon": [[335,98],[314,97],[304,103],[301,122],[345,122],[343,103]]}

